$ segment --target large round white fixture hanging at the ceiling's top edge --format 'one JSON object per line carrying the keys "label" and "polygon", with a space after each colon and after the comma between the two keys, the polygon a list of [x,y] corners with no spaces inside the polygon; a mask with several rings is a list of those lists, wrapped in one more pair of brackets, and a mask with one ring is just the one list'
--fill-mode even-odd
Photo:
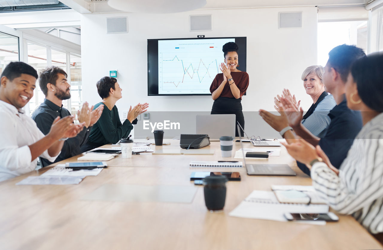
{"label": "large round white fixture hanging at the ceiling's top edge", "polygon": [[126,12],[175,13],[201,8],[206,0],[109,0],[108,5]]}

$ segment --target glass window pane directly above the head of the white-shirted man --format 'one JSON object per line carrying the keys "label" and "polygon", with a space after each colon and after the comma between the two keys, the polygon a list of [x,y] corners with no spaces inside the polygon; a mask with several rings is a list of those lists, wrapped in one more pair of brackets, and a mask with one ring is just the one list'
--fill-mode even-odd
{"label": "glass window pane directly above the head of the white-shirted man", "polygon": [[0,32],[0,75],[10,62],[19,60],[19,38]]}

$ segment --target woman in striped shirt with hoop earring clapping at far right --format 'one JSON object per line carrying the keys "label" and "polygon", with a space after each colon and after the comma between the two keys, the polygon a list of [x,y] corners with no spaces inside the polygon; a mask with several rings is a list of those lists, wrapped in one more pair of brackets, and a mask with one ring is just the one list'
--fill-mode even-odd
{"label": "woman in striped shirt with hoop earring clapping at far right", "polygon": [[347,106],[362,111],[363,128],[339,170],[319,146],[302,139],[284,145],[311,169],[313,186],[333,209],[352,214],[383,242],[383,54],[355,61],[345,88]]}

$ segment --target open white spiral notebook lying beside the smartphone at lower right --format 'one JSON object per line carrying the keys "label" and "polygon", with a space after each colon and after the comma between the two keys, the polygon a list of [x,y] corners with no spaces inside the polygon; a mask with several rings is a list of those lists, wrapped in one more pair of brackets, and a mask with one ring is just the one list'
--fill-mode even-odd
{"label": "open white spiral notebook lying beside the smartphone at lower right", "polygon": [[[287,221],[285,213],[327,213],[329,206],[324,204],[292,204],[280,203],[272,191],[254,190],[233,211],[230,216]],[[318,222],[323,224],[323,222]]]}

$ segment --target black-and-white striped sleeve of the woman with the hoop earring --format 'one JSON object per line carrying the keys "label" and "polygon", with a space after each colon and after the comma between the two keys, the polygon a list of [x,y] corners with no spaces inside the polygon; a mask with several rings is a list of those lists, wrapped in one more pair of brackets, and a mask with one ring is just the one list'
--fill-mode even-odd
{"label": "black-and-white striped sleeve of the woman with the hoop earring", "polygon": [[316,163],[311,169],[315,189],[342,214],[370,207],[376,199],[383,197],[383,138],[375,138],[359,139],[358,143],[365,148],[364,154],[360,156],[353,152],[360,146],[352,147],[339,176],[325,163]]}

